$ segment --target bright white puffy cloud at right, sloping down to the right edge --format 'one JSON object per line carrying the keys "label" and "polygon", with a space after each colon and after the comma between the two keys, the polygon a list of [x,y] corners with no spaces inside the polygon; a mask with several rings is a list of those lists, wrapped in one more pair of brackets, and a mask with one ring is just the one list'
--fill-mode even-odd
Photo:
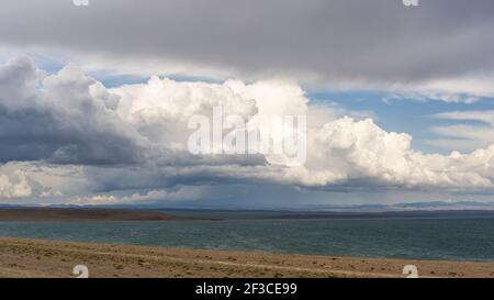
{"label": "bright white puffy cloud at right, sloping down to the right edge", "polygon": [[409,135],[385,132],[370,119],[343,118],[330,122],[319,130],[312,145],[312,153],[317,153],[318,159],[314,166],[307,162],[308,178],[318,178],[319,185],[330,185],[335,178],[357,185],[404,188],[492,187],[489,169],[493,167],[494,147],[469,155],[428,155],[413,151],[411,141]]}

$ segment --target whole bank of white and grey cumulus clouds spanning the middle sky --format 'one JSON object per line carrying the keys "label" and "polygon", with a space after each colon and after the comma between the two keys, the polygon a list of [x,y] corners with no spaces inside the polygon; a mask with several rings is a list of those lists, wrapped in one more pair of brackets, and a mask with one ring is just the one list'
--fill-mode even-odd
{"label": "whole bank of white and grey cumulus clouds spanning the middle sky", "polygon": [[[0,78],[8,91],[0,95],[0,189],[5,198],[148,201],[173,199],[169,192],[177,187],[233,184],[326,191],[494,188],[494,145],[470,154],[423,154],[411,147],[406,133],[388,132],[371,119],[341,115],[330,107],[317,110],[293,81],[207,84],[151,77],[146,84],[106,89],[74,66],[47,76],[22,57],[0,67]],[[247,122],[306,114],[312,120],[306,163],[293,166],[263,154],[190,154],[189,119],[211,115],[216,105]],[[491,120],[481,112],[440,118]],[[114,195],[132,190],[156,192]]]}

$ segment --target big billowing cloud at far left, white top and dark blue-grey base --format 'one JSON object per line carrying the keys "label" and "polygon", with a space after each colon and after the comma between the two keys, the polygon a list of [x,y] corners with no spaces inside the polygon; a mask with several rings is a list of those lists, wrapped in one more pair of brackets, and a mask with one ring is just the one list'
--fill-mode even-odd
{"label": "big billowing cloud at far left, white top and dark blue-grey base", "polygon": [[142,159],[135,132],[105,107],[111,97],[90,92],[96,81],[69,67],[41,84],[37,73],[25,57],[0,66],[0,163],[115,165]]}

